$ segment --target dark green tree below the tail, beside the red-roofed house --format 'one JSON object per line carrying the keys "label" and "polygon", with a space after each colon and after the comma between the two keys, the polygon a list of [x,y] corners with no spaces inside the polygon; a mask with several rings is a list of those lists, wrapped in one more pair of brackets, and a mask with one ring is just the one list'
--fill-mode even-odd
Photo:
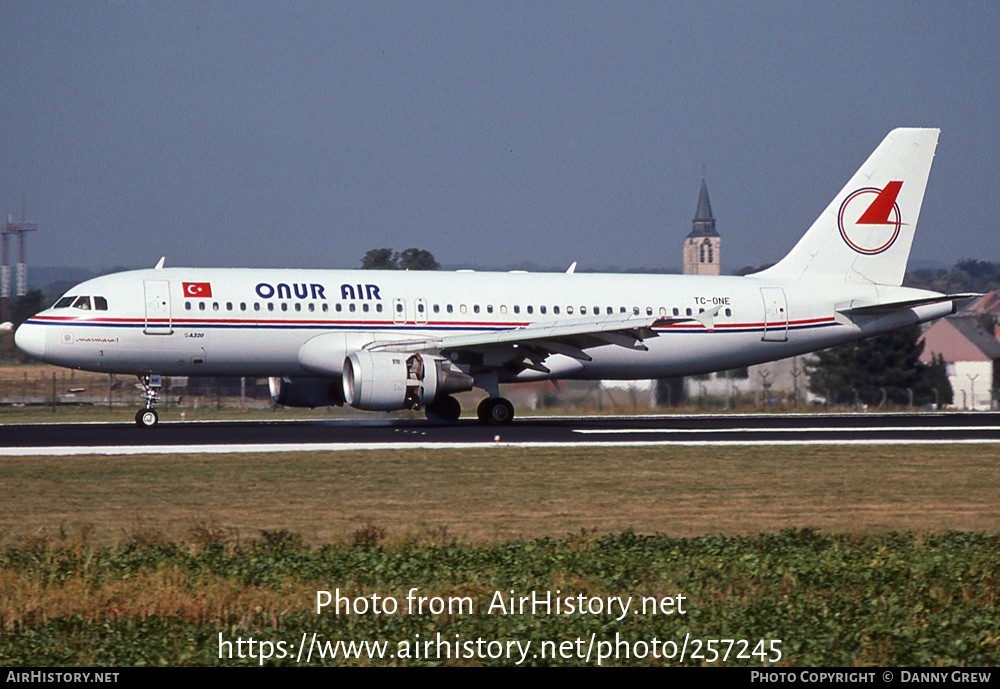
{"label": "dark green tree below the tail, beside the red-roofed house", "polygon": [[[853,403],[879,405],[884,401],[905,405],[934,402],[933,389],[938,389],[940,403],[950,394],[941,383],[943,361],[934,365],[920,362],[924,343],[919,326],[903,328],[860,342],[817,352],[807,369],[809,390],[834,404]],[[943,376],[947,383],[947,375]],[[884,392],[883,392],[884,391]]]}

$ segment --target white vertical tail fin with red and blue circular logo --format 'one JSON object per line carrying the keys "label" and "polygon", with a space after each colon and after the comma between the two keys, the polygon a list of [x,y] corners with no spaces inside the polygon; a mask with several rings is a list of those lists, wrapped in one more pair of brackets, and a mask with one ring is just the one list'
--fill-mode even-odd
{"label": "white vertical tail fin with red and blue circular logo", "polygon": [[901,285],[938,129],[894,129],[798,244],[757,275]]}

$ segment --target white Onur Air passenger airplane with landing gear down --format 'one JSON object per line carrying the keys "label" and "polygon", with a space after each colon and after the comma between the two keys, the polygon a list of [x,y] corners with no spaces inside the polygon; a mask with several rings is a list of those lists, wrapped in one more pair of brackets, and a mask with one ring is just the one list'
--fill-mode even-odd
{"label": "white Onur Air passenger airplane with landing gear down", "polygon": [[506,424],[500,386],[685,376],[940,318],[971,294],[902,287],[939,130],[890,132],[792,250],[747,276],[155,268],[70,289],[15,333],[31,357],[139,377],[269,378],[275,402],[424,409],[455,393]]}

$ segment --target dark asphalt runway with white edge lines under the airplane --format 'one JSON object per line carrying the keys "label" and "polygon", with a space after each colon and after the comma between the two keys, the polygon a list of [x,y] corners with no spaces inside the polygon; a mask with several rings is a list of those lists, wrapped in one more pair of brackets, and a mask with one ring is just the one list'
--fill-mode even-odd
{"label": "dark asphalt runway with white edge lines under the airplane", "polygon": [[1000,443],[1000,413],[527,417],[3,426],[0,456],[468,448],[483,446]]}

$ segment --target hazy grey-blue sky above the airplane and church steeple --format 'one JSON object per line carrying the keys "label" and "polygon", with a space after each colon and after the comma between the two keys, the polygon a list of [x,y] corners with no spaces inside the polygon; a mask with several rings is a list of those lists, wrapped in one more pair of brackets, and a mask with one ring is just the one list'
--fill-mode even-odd
{"label": "hazy grey-blue sky above the airplane and church steeple", "polygon": [[723,270],[940,127],[912,258],[1000,260],[1000,3],[0,0],[29,264]]}

